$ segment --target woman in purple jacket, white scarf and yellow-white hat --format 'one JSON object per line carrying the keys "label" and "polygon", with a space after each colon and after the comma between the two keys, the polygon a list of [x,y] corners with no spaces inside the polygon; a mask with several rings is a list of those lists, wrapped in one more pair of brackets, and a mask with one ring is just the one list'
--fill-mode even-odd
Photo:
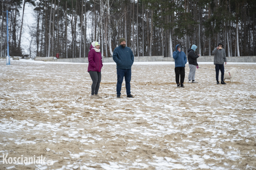
{"label": "woman in purple jacket, white scarf and yellow-white hat", "polygon": [[101,68],[103,64],[100,53],[100,43],[98,43],[97,41],[94,41],[91,44],[90,51],[88,53],[88,61],[88,72],[92,79],[92,92],[90,98],[99,99],[102,98],[98,95],[98,91],[100,88]]}

